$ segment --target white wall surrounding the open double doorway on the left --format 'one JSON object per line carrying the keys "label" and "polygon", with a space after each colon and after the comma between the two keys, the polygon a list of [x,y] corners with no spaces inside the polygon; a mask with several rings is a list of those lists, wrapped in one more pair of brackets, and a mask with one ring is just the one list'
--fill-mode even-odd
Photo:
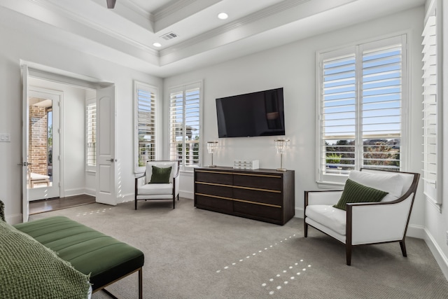
{"label": "white wall surrounding the open double doorway on the left", "polygon": [[[135,79],[154,85],[162,96],[162,79],[59,46],[2,23],[0,36],[2,45],[0,47],[0,133],[10,134],[11,139],[10,142],[0,142],[0,199],[5,202],[8,222],[17,223],[22,218],[22,167],[18,166],[22,160],[20,60],[116,84],[116,158],[118,159],[117,176],[120,179],[117,185],[117,202],[132,198],[134,194],[132,81]],[[67,124],[68,127],[76,125],[76,120]],[[69,188],[77,188],[77,184],[74,183],[71,187],[69,185]]]}

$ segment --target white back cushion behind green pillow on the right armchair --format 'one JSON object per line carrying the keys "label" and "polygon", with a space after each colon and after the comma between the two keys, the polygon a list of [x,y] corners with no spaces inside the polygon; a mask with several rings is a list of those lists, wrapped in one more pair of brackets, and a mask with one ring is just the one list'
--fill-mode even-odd
{"label": "white back cushion behind green pillow on the right armchair", "polygon": [[[405,176],[401,172],[384,172],[380,170],[363,169],[362,172],[352,170],[349,174],[349,179],[363,184],[370,188],[375,188],[387,192],[388,194],[381,200],[382,202],[391,202],[397,200],[403,195],[412,183],[409,184],[409,176]],[[407,186],[407,188],[405,188]]]}

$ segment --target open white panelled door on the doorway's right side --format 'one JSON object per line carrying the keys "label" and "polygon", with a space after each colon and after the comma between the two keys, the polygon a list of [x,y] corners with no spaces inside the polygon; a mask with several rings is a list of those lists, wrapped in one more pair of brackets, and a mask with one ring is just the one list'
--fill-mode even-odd
{"label": "open white panelled door on the doorway's right side", "polygon": [[97,202],[116,205],[115,85],[97,89]]}

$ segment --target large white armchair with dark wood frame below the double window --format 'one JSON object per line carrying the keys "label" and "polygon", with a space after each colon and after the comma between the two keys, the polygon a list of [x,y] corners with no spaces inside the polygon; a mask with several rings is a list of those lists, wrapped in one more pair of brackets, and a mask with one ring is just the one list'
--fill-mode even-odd
{"label": "large white armchair with dark wood frame below the double window", "polygon": [[346,264],[351,265],[352,246],[400,242],[406,254],[405,237],[420,174],[361,169],[349,179],[363,186],[386,191],[380,202],[346,203],[346,211],[333,207],[342,190],[304,192],[304,237],[308,226],[345,244]]}

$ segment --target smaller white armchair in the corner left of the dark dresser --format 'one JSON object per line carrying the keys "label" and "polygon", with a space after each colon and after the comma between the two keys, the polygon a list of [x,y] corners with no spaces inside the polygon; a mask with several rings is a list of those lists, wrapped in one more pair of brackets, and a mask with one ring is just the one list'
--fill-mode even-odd
{"label": "smaller white armchair in the corner left of the dark dresser", "polygon": [[[159,169],[171,167],[166,183],[151,183],[153,166]],[[146,162],[145,174],[135,179],[135,209],[137,209],[138,200],[172,200],[174,209],[176,207],[176,197],[179,200],[179,161]]]}

